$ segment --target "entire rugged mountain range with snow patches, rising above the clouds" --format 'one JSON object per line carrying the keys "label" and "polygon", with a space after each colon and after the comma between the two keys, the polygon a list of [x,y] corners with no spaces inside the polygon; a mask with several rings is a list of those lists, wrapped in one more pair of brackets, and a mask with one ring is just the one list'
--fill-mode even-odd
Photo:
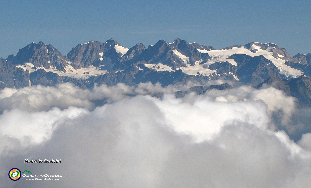
{"label": "entire rugged mountain range with snow patches, rising above the clouds", "polygon": [[[311,106],[311,54],[291,56],[273,43],[250,42],[220,50],[188,43],[159,40],[128,49],[114,39],[78,44],[65,56],[51,44],[31,43],[16,55],[0,58],[0,88],[55,86],[70,82],[82,88],[95,84],[135,85],[140,82],[174,83],[222,79],[231,84],[271,85]],[[229,84],[228,84],[229,85]],[[231,86],[214,86],[228,89]],[[190,89],[203,93],[199,87]],[[184,93],[183,93],[184,94]],[[183,95],[182,94],[182,95]]]}

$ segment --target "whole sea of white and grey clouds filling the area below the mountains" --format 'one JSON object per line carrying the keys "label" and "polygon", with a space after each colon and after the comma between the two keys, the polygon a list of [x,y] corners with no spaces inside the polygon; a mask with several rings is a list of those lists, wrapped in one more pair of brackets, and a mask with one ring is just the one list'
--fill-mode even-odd
{"label": "whole sea of white and grey clouds filling the area below the mountains", "polygon": [[[174,92],[191,86],[2,89],[0,187],[311,185],[310,109],[273,87],[176,98]],[[11,181],[13,167],[63,177]]]}

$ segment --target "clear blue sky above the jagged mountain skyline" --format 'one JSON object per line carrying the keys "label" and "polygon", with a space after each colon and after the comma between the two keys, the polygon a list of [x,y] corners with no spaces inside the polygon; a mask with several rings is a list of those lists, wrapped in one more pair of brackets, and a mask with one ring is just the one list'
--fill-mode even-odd
{"label": "clear blue sky above the jagged mountain skyline", "polygon": [[311,1],[7,1],[0,2],[0,57],[31,42],[63,55],[89,40],[146,47],[177,37],[216,49],[272,42],[311,53]]}

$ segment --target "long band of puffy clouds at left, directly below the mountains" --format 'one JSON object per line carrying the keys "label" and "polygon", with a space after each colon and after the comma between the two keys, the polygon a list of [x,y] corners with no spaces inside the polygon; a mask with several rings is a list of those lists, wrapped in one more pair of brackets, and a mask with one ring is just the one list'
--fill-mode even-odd
{"label": "long band of puffy clouds at left, directly below the mountains", "polygon": [[[159,95],[184,90],[189,86],[161,87],[159,83],[140,83],[137,87],[130,87],[123,83],[108,87],[101,85],[90,90],[83,90],[70,83],[59,84],[57,87],[34,86],[20,89],[5,88],[0,91],[0,112],[20,108],[26,111],[49,110],[52,107],[66,109],[76,106],[94,110],[95,106],[102,103],[119,101],[125,97],[136,95]],[[99,103],[99,104],[98,104]]]}

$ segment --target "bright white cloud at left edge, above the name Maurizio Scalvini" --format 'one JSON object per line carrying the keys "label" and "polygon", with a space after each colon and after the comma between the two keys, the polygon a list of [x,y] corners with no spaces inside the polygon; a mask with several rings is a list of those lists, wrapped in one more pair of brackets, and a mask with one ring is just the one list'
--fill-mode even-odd
{"label": "bright white cloud at left edge, above the name Maurizio Scalvini", "polygon": [[27,112],[18,108],[6,110],[0,116],[0,135],[20,139],[23,145],[41,143],[44,139],[49,139],[53,130],[63,121],[74,119],[87,112],[76,107],[65,110],[54,107],[48,112]]}

